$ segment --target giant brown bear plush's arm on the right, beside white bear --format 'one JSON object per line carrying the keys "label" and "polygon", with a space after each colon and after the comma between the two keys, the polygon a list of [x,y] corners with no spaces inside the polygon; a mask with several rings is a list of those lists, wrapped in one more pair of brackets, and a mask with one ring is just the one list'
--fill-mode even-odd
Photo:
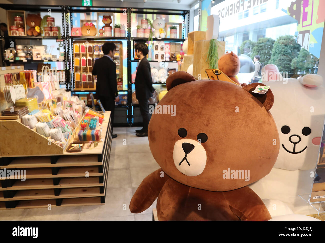
{"label": "giant brown bear plush's arm on the right, beside white bear", "polygon": [[248,186],[223,192],[231,211],[240,220],[270,220],[272,217],[262,199]]}

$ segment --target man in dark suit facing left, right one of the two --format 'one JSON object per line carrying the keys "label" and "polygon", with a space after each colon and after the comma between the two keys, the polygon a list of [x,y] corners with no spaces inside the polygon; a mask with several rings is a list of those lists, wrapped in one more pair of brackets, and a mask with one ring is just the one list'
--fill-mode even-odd
{"label": "man in dark suit facing left, right one of the two", "polygon": [[137,43],[134,46],[136,55],[140,58],[140,64],[136,71],[136,98],[139,100],[140,112],[143,118],[143,128],[136,130],[138,137],[148,136],[148,125],[150,121],[148,99],[152,97],[154,89],[152,87],[151,68],[147,60],[149,52],[148,46],[145,43]]}

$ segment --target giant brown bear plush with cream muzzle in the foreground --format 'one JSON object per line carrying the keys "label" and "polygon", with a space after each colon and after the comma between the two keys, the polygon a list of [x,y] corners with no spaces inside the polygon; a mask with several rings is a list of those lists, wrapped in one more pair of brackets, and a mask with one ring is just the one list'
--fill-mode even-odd
{"label": "giant brown bear plush with cream muzzle in the foreground", "polygon": [[169,91],[158,105],[174,106],[175,116],[158,108],[148,131],[161,168],[137,188],[131,212],[148,209],[158,197],[159,220],[271,219],[247,186],[271,171],[279,153],[269,111],[273,94],[252,93],[257,85],[195,81],[182,71],[168,77]]}

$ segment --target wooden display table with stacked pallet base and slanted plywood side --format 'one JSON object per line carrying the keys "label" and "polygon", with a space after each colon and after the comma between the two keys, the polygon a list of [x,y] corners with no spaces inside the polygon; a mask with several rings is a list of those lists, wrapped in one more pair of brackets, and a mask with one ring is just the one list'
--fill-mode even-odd
{"label": "wooden display table with stacked pallet base and slanted plywood side", "polygon": [[[19,121],[0,121],[0,170],[26,170],[25,181],[0,178],[0,210],[105,203],[111,148],[110,111],[104,116],[100,126],[102,141],[98,146],[89,149],[85,142],[83,151],[72,153],[65,151],[68,146],[48,144],[45,137]],[[17,127],[19,130],[14,129]]]}

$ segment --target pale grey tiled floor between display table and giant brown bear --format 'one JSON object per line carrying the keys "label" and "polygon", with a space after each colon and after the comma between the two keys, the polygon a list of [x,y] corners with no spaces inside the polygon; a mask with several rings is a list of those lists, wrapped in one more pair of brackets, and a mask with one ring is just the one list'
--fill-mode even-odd
{"label": "pale grey tiled floor between display table and giant brown bear", "polygon": [[148,137],[136,137],[138,127],[114,128],[104,205],[1,210],[0,220],[152,220],[152,209],[133,214],[129,204],[142,180],[160,168],[154,160]]}

